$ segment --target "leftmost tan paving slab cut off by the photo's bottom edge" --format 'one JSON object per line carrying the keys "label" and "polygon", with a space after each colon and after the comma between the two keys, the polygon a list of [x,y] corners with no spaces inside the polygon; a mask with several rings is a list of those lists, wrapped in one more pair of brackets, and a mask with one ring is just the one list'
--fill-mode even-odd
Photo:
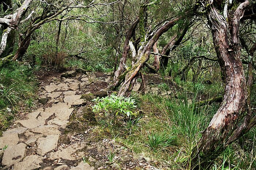
{"label": "leftmost tan paving slab cut off by the photo's bottom edge", "polygon": [[14,164],[15,170],[33,170],[41,167],[41,163],[43,163],[44,157],[40,157],[38,155],[29,155],[23,159],[22,162],[18,162]]}

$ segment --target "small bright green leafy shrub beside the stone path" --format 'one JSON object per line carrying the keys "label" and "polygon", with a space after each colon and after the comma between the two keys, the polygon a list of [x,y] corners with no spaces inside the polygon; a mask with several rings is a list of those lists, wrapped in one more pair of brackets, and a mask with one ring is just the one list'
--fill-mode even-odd
{"label": "small bright green leafy shrub beside the stone path", "polygon": [[94,112],[103,112],[106,116],[113,116],[114,124],[116,116],[133,115],[132,110],[136,108],[135,100],[131,98],[125,98],[122,96],[110,95],[105,98],[93,99],[96,104],[93,106]]}

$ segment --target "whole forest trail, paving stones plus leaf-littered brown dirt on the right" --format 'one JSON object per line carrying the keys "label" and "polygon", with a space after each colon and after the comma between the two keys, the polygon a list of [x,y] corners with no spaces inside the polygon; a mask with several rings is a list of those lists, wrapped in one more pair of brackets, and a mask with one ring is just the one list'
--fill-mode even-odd
{"label": "whole forest trail, paving stones plus leaf-littered brown dirt on the right", "polygon": [[97,129],[91,99],[108,95],[100,90],[109,80],[110,74],[76,70],[41,82],[41,107],[16,120],[0,138],[0,169],[156,169]]}

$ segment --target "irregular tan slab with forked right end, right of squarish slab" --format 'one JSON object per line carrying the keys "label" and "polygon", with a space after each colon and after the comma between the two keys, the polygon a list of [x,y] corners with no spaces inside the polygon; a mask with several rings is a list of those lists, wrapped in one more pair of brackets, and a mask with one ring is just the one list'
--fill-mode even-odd
{"label": "irregular tan slab with forked right end, right of squarish slab", "polygon": [[56,152],[52,152],[49,154],[49,160],[54,160],[54,159],[67,159],[70,161],[74,161],[77,159],[81,159],[82,157],[79,156],[71,156],[73,153],[75,153],[77,150],[83,149],[86,146],[85,142],[82,143],[75,143],[71,146],[68,146],[65,149],[60,149]]}

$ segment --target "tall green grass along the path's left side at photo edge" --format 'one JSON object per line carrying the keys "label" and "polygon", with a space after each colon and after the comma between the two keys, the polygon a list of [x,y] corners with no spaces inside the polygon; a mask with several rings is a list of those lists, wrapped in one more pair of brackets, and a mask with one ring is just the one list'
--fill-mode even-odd
{"label": "tall green grass along the path's left side at photo edge", "polygon": [[16,62],[0,68],[0,130],[8,126],[19,106],[32,106],[36,88],[32,71]]}

